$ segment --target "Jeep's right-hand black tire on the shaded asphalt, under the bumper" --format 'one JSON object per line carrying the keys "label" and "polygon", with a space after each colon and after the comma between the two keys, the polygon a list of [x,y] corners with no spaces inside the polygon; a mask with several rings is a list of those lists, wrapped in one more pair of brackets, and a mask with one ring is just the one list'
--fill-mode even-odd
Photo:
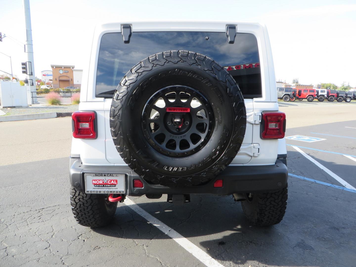
{"label": "Jeep's right-hand black tire on the shaded asphalt, under the bumper", "polygon": [[246,194],[246,197],[241,206],[251,223],[270,226],[282,221],[287,207],[287,187],[277,192]]}

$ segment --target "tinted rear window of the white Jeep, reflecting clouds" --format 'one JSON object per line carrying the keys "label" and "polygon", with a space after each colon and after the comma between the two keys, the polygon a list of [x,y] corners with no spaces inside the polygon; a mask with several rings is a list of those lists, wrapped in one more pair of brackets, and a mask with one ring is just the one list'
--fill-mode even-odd
{"label": "tinted rear window of the white Jeep, reflecting clouds", "polygon": [[124,44],[121,33],[106,33],[100,43],[95,95],[111,97],[133,66],[168,50],[204,54],[225,67],[245,98],[262,97],[256,37],[237,33],[235,43],[229,44],[225,32],[133,32],[129,44]]}

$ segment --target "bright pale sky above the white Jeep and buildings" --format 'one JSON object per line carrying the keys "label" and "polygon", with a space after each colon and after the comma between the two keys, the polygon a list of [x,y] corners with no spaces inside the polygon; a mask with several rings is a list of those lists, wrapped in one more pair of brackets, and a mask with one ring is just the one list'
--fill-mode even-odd
{"label": "bright pale sky above the white Jeep and buildings", "polygon": [[[220,3],[220,4],[217,4]],[[120,21],[241,21],[267,26],[276,79],[356,87],[356,2],[30,0],[35,75],[51,64],[87,69],[94,27]],[[26,61],[22,0],[2,0],[0,52],[19,78]],[[198,51],[199,52],[199,51]],[[0,70],[11,72],[0,53]],[[0,71],[0,74],[4,74]]]}

